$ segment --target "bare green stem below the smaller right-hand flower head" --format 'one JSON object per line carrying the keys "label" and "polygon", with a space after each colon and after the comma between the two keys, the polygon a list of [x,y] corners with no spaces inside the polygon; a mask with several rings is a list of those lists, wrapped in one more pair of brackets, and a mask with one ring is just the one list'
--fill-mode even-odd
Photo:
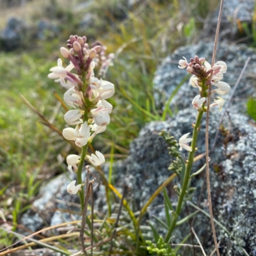
{"label": "bare green stem below the smaller right-hand flower head", "polygon": [[[200,112],[198,112],[196,124],[195,124],[194,131],[193,131],[193,136],[192,136],[193,141],[191,141],[192,151],[189,152],[188,164],[186,165],[186,170],[185,170],[185,175],[184,175],[184,182],[182,184],[178,204],[177,204],[176,211],[175,211],[177,216],[179,216],[180,211],[182,209],[184,196],[186,195],[186,191],[188,188],[189,177],[190,177],[191,168],[193,166],[193,161],[194,161],[194,156],[195,156],[196,141],[198,138],[198,132],[200,130],[200,124],[201,124],[203,114],[204,114],[204,106],[203,106],[202,110]],[[165,237],[165,241],[164,241],[165,243],[167,243],[169,241],[170,237],[172,236],[172,232],[175,228],[176,223],[177,223],[177,218],[172,218],[172,223],[171,223],[168,233],[166,234],[166,237]]]}

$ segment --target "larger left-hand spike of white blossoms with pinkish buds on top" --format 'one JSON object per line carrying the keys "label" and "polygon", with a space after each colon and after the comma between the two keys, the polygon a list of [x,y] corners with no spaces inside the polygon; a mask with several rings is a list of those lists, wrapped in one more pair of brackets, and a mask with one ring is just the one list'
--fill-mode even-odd
{"label": "larger left-hand spike of white blossoms with pinkish buds on top", "polygon": [[[78,147],[83,148],[91,143],[97,134],[104,132],[106,125],[110,122],[109,114],[113,106],[106,99],[113,96],[115,86],[95,77],[94,68],[97,63],[101,63],[100,70],[104,70],[101,73],[106,74],[108,66],[113,65],[114,56],[106,57],[106,47],[99,43],[89,47],[86,36],[70,36],[67,40],[67,48],[61,47],[60,52],[70,61],[70,64],[63,67],[59,59],[58,65],[50,69],[51,73],[48,77],[60,82],[61,86],[67,90],[64,93],[64,101],[73,108],[65,113],[64,119],[68,125],[76,125],[76,127],[63,129],[63,137],[66,140],[75,141]],[[71,73],[73,69],[76,73]],[[105,162],[104,156],[99,151],[86,156],[85,159],[94,166]],[[80,161],[80,156],[68,156],[68,170],[76,172]],[[72,184],[68,185],[68,193],[77,193],[81,187],[81,184],[77,186],[74,184],[75,182],[72,181]]]}

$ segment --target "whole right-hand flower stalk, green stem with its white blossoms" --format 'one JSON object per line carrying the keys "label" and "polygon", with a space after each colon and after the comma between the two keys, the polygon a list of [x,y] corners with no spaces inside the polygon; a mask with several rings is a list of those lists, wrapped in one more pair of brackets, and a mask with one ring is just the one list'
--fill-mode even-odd
{"label": "whole right-hand flower stalk, green stem with its white blossoms", "polygon": [[[227,65],[223,61],[218,61],[211,67],[210,63],[205,61],[205,58],[198,58],[198,56],[195,56],[195,58],[190,59],[189,63],[186,58],[184,58],[184,60],[180,60],[178,67],[186,68],[189,74],[193,74],[193,76],[189,80],[189,84],[191,84],[191,86],[193,86],[194,88],[197,88],[199,92],[199,94],[196,95],[196,97],[192,101],[193,108],[197,110],[198,115],[196,118],[196,123],[192,124],[192,127],[194,129],[192,138],[187,138],[189,135],[189,133],[187,133],[184,134],[179,140],[180,150],[187,150],[189,152],[189,156],[188,160],[186,161],[187,163],[184,177],[182,176],[181,188],[175,186],[175,188],[178,189],[177,194],[179,198],[175,212],[172,212],[173,218],[164,240],[165,243],[168,243],[170,237],[172,236],[172,232],[177,223],[180,211],[182,210],[182,206],[184,205],[184,201],[187,200],[186,195],[188,195],[189,190],[191,190],[188,187],[190,183],[189,180],[191,179],[191,169],[193,167],[194,156],[197,150],[196,142],[198,138],[198,132],[200,131],[202,116],[204,115],[204,112],[207,111],[207,107],[205,106],[207,106],[207,104],[209,105],[209,102],[207,102],[207,99],[209,100],[209,93],[225,95],[230,90],[230,86],[227,83],[221,81],[221,79],[223,79],[223,74],[227,72]],[[211,85],[217,87],[215,90],[212,90],[212,93],[209,92],[211,91],[209,90],[209,88],[211,88]],[[214,99],[214,103],[209,105],[209,108],[218,106],[220,111],[224,103],[225,100],[223,100],[221,97],[218,97],[218,100]],[[191,142],[191,146],[188,145],[189,142]]]}

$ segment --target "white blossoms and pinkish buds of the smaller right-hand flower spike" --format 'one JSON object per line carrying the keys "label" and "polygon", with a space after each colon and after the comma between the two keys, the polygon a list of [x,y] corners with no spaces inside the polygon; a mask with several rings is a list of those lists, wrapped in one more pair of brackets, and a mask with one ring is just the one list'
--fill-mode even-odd
{"label": "white blossoms and pinkish buds of the smaller right-hand flower spike", "polygon": [[[184,57],[183,57],[184,58]],[[205,111],[205,102],[208,97],[209,85],[214,85],[216,88],[211,90],[211,94],[217,93],[219,95],[226,95],[230,91],[230,86],[221,81],[223,79],[223,74],[227,72],[227,64],[224,61],[217,61],[213,67],[211,64],[205,61],[205,58],[191,58],[190,62],[184,58],[184,60],[179,61],[179,68],[186,68],[189,74],[193,76],[189,79],[189,84],[194,88],[198,89],[199,94],[195,96],[192,100],[193,108],[197,111]],[[219,107],[219,111],[225,103],[225,100],[221,97],[214,99],[214,103],[210,105],[210,108],[214,106]],[[180,150],[184,148],[189,152],[192,151],[189,147],[188,142],[192,139],[187,138],[188,134],[183,135],[179,140]]]}

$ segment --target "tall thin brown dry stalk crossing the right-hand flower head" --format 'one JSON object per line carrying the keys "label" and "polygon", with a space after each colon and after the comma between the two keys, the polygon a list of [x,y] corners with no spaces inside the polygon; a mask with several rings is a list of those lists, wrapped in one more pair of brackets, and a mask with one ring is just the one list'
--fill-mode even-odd
{"label": "tall thin brown dry stalk crossing the right-hand flower head", "polygon": [[[220,12],[218,17],[218,24],[216,28],[216,35],[214,40],[214,47],[212,52],[212,67],[215,62],[216,50],[217,50],[217,43],[218,43],[218,36],[220,32],[220,22],[221,22],[221,13],[223,9],[224,0],[221,0],[220,4]],[[216,253],[220,256],[220,252],[218,249],[218,242],[214,227],[214,220],[213,220],[213,213],[212,213],[212,200],[211,200],[211,184],[210,184],[210,172],[209,172],[209,116],[210,116],[210,99],[211,99],[211,83],[209,84],[208,90],[208,100],[207,100],[207,115],[206,115],[206,127],[205,127],[205,161],[206,161],[206,179],[207,179],[207,194],[208,194],[208,203],[209,203],[209,212],[211,216],[211,226],[212,226],[212,235],[214,239],[214,244],[216,248]]]}

